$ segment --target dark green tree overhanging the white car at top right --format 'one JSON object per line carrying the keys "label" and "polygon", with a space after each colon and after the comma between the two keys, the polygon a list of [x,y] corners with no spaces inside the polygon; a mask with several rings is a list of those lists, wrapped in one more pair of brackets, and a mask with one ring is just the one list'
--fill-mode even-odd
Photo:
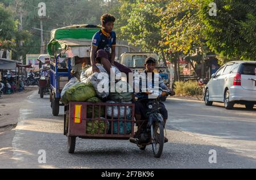
{"label": "dark green tree overhanging the white car at top right", "polygon": [[255,60],[255,0],[215,0],[217,16],[209,15],[210,2],[200,1],[200,18],[209,48],[229,59]]}

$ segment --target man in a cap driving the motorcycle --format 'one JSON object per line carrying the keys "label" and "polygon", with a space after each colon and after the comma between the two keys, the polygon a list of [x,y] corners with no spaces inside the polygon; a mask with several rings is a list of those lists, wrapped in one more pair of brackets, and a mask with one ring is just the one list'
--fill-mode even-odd
{"label": "man in a cap driving the motorcycle", "polygon": [[[159,74],[154,73],[155,65],[156,65],[156,59],[154,59],[152,57],[149,57],[146,59],[145,64],[144,64],[144,66],[146,68],[146,70],[144,71],[146,76],[148,75],[148,73],[152,73],[152,84],[154,84],[155,78],[159,78],[159,84],[154,84],[153,86],[160,87],[166,91],[170,91],[170,89],[167,88],[166,84],[164,84],[162,77]],[[151,84],[151,82],[149,84],[149,82],[147,81],[147,87],[152,84]],[[140,87],[140,89],[141,89],[141,87]],[[148,95],[146,93],[137,93],[136,96],[138,97],[138,101],[135,102],[135,119],[136,119],[136,123],[138,126],[138,131],[135,133],[134,138],[140,139],[141,134],[146,130],[146,126],[147,126],[146,113],[147,113],[148,107],[147,107],[146,101],[139,101],[139,100],[147,99]],[[159,105],[160,105],[159,112],[160,112],[160,114],[163,115],[164,126],[165,126],[166,121],[168,119],[168,112],[162,102],[159,102]],[[164,142],[165,143],[168,142],[168,139],[165,138]]]}

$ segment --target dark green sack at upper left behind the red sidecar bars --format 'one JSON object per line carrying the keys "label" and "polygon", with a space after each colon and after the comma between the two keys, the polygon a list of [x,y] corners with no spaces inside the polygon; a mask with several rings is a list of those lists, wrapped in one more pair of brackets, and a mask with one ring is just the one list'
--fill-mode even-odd
{"label": "dark green sack at upper left behind the red sidecar bars", "polygon": [[[92,97],[92,98],[89,98],[89,100],[87,100],[86,102],[97,103],[97,102],[102,102],[102,101],[98,97]],[[92,111],[93,111],[92,105],[88,105],[87,106],[87,118],[92,118]],[[105,106],[101,106],[101,110],[100,110],[99,105],[94,105],[94,118],[99,117],[99,112],[100,112],[100,117],[105,117]]]}

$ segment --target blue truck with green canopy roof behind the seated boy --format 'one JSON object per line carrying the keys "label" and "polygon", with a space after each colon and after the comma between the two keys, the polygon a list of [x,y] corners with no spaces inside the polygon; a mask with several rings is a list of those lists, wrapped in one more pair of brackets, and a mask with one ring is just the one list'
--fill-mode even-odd
{"label": "blue truck with green canopy roof behind the seated boy", "polygon": [[53,29],[47,45],[50,62],[50,101],[52,114],[59,115],[61,91],[72,78],[72,69],[82,62],[90,63],[90,45],[93,35],[101,27],[91,24],[71,25]]}

